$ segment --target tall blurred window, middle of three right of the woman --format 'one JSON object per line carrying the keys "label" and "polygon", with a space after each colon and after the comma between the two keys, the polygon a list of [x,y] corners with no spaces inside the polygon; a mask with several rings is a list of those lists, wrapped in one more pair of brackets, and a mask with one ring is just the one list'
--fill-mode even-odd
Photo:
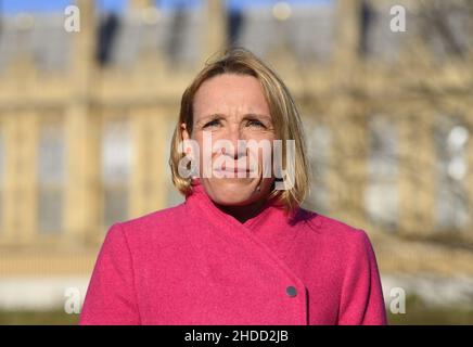
{"label": "tall blurred window, middle of three right of the woman", "polygon": [[392,120],[375,116],[369,121],[368,187],[366,207],[372,222],[396,228],[398,219],[398,134]]}

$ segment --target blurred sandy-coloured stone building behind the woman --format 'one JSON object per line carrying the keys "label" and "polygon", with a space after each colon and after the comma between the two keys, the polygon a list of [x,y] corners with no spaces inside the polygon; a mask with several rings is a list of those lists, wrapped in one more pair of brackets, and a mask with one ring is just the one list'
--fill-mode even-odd
{"label": "blurred sandy-coloured stone building behind the woman", "polygon": [[79,33],[63,11],[1,15],[1,306],[84,288],[112,223],[183,201],[167,164],[180,97],[230,44],[296,99],[305,207],[365,229],[383,275],[473,275],[468,1],[191,2],[78,0]]}

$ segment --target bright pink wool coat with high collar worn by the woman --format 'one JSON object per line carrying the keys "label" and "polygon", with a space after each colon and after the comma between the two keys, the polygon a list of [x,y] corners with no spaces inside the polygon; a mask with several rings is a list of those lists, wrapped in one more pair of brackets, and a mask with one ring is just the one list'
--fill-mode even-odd
{"label": "bright pink wool coat with high collar worn by the woman", "polygon": [[386,324],[362,230],[272,203],[241,223],[203,185],[186,202],[115,223],[80,324]]}

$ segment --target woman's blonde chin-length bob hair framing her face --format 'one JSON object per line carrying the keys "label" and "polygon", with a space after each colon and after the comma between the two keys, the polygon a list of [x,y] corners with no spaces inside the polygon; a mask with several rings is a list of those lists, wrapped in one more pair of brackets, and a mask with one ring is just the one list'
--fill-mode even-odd
{"label": "woman's blonde chin-length bob hair framing her face", "polygon": [[[179,175],[179,163],[186,156],[179,151],[182,141],[182,128],[180,124],[184,123],[192,134],[193,127],[193,102],[194,95],[201,85],[212,77],[222,74],[248,75],[257,78],[263,87],[263,91],[268,102],[276,131],[276,139],[282,140],[282,167],[287,169],[286,165],[286,140],[294,140],[295,158],[289,160],[294,163],[292,168],[294,172],[294,182],[291,182],[289,189],[272,190],[268,198],[276,197],[286,211],[298,207],[304,201],[310,181],[309,164],[306,155],[305,137],[302,121],[294,100],[291,97],[286,86],[281,78],[252,52],[243,48],[232,48],[226,50],[215,61],[205,63],[204,68],[197,74],[192,83],[186,89],[181,99],[179,120],[174,130],[169,165],[172,174],[172,182],[179,192],[183,195],[192,193],[191,178],[182,178]],[[287,178],[284,178],[287,179]],[[287,187],[285,181],[284,187]]]}

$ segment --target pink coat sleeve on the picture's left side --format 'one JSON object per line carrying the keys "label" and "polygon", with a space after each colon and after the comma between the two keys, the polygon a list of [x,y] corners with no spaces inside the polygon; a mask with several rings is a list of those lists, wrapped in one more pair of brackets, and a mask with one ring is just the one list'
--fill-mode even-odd
{"label": "pink coat sleeve on the picture's left side", "polygon": [[100,249],[79,324],[140,324],[131,253],[119,223],[110,228]]}

